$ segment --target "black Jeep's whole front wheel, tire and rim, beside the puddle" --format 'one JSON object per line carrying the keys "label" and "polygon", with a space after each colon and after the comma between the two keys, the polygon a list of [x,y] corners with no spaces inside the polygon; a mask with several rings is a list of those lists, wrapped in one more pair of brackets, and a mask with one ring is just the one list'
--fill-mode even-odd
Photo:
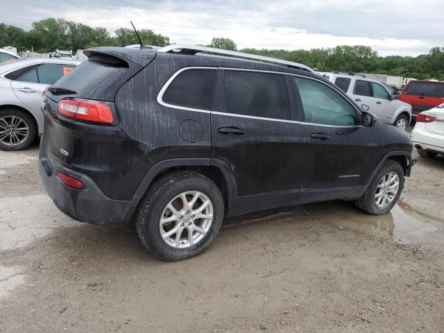
{"label": "black Jeep's whole front wheel, tire and rim, beside the puddle", "polygon": [[398,162],[387,160],[355,205],[368,214],[386,214],[398,201],[403,188],[404,170]]}

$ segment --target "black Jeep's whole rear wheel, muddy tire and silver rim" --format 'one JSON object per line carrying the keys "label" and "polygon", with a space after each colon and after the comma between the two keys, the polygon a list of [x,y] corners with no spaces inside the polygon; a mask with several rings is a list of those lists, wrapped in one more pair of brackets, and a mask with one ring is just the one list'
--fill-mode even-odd
{"label": "black Jeep's whole rear wheel, muddy tire and silver rim", "polygon": [[193,257],[210,246],[221,229],[223,198],[212,180],[193,171],[155,180],[136,217],[139,238],[162,260]]}

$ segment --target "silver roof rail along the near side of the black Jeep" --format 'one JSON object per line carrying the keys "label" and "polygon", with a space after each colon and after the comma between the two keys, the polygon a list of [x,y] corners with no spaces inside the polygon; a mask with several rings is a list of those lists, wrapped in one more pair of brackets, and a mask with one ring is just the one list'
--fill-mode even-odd
{"label": "silver roof rail along the near side of the black Jeep", "polygon": [[252,60],[262,60],[265,62],[271,62],[275,65],[284,65],[287,67],[302,69],[304,71],[309,71],[311,73],[314,73],[313,69],[311,69],[308,66],[302,65],[298,62],[292,62],[292,61],[264,57],[264,56],[257,56],[255,54],[244,53],[244,52],[239,52],[239,51],[228,51],[228,50],[223,50],[223,49],[214,49],[213,47],[207,47],[207,46],[173,44],[173,45],[169,45],[169,46],[164,46],[164,47],[162,47],[162,49],[158,49],[157,52],[163,52],[163,53],[177,52],[177,53],[191,54],[191,55],[194,55],[199,52],[216,53],[216,54],[223,54],[224,56],[232,56],[232,57],[246,58],[246,59],[252,59]]}

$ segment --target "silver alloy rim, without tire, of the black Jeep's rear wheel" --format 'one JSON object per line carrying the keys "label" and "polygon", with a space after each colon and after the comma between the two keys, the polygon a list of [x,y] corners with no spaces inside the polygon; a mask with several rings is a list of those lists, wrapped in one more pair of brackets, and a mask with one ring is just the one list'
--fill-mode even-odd
{"label": "silver alloy rim, without tire, of the black Jeep's rear wheel", "polygon": [[212,225],[213,205],[199,191],[186,191],[171,200],[160,218],[162,239],[173,248],[197,244]]}

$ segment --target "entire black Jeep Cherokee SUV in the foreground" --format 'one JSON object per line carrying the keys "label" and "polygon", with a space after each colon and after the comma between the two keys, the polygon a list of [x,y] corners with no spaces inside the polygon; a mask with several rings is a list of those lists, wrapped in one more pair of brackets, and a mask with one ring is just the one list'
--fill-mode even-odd
{"label": "entire black Jeep Cherokee SUV in the foreground", "polygon": [[404,131],[304,65],[201,46],[85,54],[46,92],[40,177],[78,221],[135,221],[161,259],[200,253],[224,216],[332,199],[384,214],[410,174]]}

